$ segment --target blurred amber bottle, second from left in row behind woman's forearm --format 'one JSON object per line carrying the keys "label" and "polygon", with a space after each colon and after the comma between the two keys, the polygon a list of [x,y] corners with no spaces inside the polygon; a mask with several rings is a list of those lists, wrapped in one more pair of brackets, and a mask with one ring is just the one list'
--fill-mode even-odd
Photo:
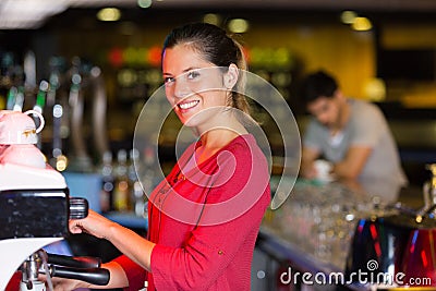
{"label": "blurred amber bottle, second from left in row behind woman's forearm", "polygon": [[120,149],[117,154],[114,174],[116,183],[113,189],[113,209],[116,211],[129,211],[131,209],[131,187],[128,175],[128,153],[125,149]]}

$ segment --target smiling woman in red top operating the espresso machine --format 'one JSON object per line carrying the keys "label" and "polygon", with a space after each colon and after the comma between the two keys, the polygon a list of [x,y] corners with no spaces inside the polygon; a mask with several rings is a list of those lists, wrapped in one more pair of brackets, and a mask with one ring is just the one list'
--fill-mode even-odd
{"label": "smiling woman in red top operating the espresso machine", "polygon": [[[250,290],[257,232],[270,201],[266,159],[242,121],[235,88],[241,47],[210,24],[173,29],[162,50],[168,101],[198,135],[149,197],[148,239],[90,211],[73,233],[109,240],[123,255],[105,264],[105,288]],[[240,112],[245,114],[241,114]],[[55,290],[101,288],[57,279]]]}

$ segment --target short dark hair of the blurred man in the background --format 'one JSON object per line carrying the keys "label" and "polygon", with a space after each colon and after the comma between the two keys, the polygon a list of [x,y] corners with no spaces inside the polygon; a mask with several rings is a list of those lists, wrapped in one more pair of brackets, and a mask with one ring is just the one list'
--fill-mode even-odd
{"label": "short dark hair of the blurred man in the background", "polygon": [[336,80],[320,70],[308,74],[301,83],[301,98],[305,105],[315,101],[319,97],[334,97],[338,89]]}

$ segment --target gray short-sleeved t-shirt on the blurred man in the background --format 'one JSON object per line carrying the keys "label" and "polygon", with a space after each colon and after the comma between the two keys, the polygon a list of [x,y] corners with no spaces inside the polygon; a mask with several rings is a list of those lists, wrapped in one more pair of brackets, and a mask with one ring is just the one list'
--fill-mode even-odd
{"label": "gray short-sleeved t-shirt on the blurred man in the background", "polygon": [[398,148],[383,112],[377,106],[363,100],[349,99],[349,102],[350,120],[341,133],[331,138],[329,130],[312,118],[303,145],[332,162],[342,160],[350,146],[372,147],[373,151],[359,178],[386,179],[404,185],[407,178]]}

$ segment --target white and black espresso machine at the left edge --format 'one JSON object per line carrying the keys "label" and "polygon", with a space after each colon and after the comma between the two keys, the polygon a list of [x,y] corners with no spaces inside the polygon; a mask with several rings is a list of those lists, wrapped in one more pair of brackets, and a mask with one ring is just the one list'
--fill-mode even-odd
{"label": "white and black espresso machine at the left edge", "polygon": [[[39,119],[36,129],[34,119]],[[85,218],[87,201],[70,197],[62,174],[35,146],[44,118],[34,110],[0,111],[0,290],[52,290],[51,277],[107,284],[98,258],[48,254],[44,247],[69,234],[69,219]],[[48,283],[38,280],[45,274]],[[13,283],[13,282],[12,282]]]}

